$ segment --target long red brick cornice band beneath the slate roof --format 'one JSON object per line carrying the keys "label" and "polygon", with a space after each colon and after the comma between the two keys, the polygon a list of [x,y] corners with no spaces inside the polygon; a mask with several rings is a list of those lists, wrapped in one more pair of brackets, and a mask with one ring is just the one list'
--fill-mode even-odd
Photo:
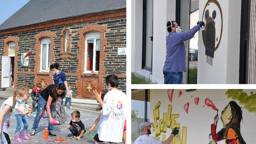
{"label": "long red brick cornice band beneath the slate roof", "polygon": [[43,29],[53,28],[53,27],[61,27],[65,25],[82,24],[86,22],[103,21],[106,19],[117,19],[117,18],[125,18],[125,17],[126,17],[126,9],[113,10],[109,12],[101,12],[101,13],[95,13],[91,15],[77,16],[73,18],[59,19],[56,21],[45,22],[42,24],[35,24],[35,25],[29,25],[25,27],[18,27],[18,28],[3,30],[3,31],[0,31],[0,36],[6,35],[6,34],[16,34],[16,33],[22,33],[27,31],[34,31],[34,30],[43,30]]}

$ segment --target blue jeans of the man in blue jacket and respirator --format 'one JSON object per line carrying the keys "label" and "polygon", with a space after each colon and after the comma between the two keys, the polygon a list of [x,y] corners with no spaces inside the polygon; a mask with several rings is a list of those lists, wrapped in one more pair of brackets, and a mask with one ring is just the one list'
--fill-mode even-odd
{"label": "blue jeans of the man in blue jacket and respirator", "polygon": [[182,72],[169,72],[163,71],[164,84],[182,84],[183,73]]}

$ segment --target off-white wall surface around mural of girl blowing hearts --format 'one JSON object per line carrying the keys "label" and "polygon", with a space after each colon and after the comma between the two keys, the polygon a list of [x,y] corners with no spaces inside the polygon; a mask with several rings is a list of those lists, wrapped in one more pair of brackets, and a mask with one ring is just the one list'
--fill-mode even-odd
{"label": "off-white wall surface around mural of girl blowing hearts", "polygon": [[[227,98],[225,95],[227,89],[197,89],[195,91],[186,92],[185,89],[175,89],[173,92],[172,102],[168,98],[167,89],[151,89],[150,90],[150,122],[154,122],[154,112],[156,104],[161,102],[159,106],[159,119],[156,120],[154,126],[158,125],[158,128],[163,127],[163,123],[160,120],[164,119],[164,113],[168,114],[168,105],[172,105],[171,114],[179,114],[174,120],[176,124],[180,124],[179,137],[182,144],[208,144],[209,134],[211,134],[211,124],[214,123],[214,117],[217,114],[216,110],[205,105],[205,99],[209,98],[213,104],[218,109],[218,123],[216,131],[220,131],[223,128],[223,123],[221,121],[221,112],[229,104],[230,101],[235,101],[240,107],[242,107],[242,121],[241,125],[241,135],[247,144],[254,144],[256,141],[256,112],[249,112],[244,108],[244,105],[239,104],[237,100],[232,98]],[[244,89],[244,92],[250,95],[256,93],[256,90]],[[179,93],[182,94],[179,96]],[[198,104],[195,104],[194,99],[199,98]],[[184,105],[189,103],[188,113],[186,113]],[[167,115],[168,117],[168,115]],[[174,124],[174,121],[171,123]],[[183,127],[187,128],[186,141],[183,142],[182,134]],[[172,128],[172,127],[171,127]],[[167,139],[171,134],[171,128],[167,128],[167,131],[161,132],[158,136],[160,140],[163,140],[163,135]],[[150,136],[155,137],[154,131]],[[185,134],[185,133],[184,133]],[[177,141],[177,138],[176,138]],[[218,141],[218,144],[225,144],[224,140]],[[179,143],[172,143],[179,144]]]}

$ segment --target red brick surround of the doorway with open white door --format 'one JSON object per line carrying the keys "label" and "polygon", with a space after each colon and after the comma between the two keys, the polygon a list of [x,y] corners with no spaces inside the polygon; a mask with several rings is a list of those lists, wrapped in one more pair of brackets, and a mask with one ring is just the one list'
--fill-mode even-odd
{"label": "red brick surround of the doorway with open white door", "polygon": [[4,52],[4,56],[9,56],[9,43],[10,42],[15,42],[15,61],[14,61],[14,88],[16,88],[16,84],[17,84],[17,71],[18,71],[18,41],[19,38],[18,37],[13,37],[10,36],[6,39],[3,40],[4,42],[4,48],[3,48],[3,52]]}

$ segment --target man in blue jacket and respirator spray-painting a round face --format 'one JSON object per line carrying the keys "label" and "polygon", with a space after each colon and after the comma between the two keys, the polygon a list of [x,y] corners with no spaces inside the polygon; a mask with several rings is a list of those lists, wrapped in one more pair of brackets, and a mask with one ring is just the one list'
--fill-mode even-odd
{"label": "man in blue jacket and respirator spray-painting a round face", "polygon": [[186,50],[184,41],[192,39],[204,22],[200,21],[188,31],[181,32],[176,21],[167,22],[166,58],[163,68],[164,84],[182,84],[186,70]]}

